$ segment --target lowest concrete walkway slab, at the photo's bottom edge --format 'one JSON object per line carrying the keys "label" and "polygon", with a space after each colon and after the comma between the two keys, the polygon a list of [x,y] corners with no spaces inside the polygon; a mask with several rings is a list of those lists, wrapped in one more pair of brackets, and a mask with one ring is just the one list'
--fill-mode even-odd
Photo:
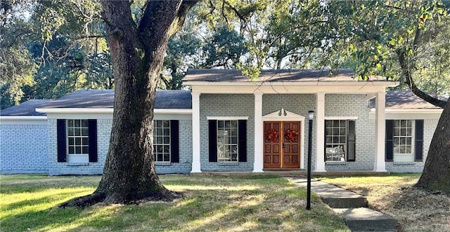
{"label": "lowest concrete walkway slab, at the photo's bottom edge", "polygon": [[364,207],[333,209],[352,231],[397,231],[397,220],[388,214]]}

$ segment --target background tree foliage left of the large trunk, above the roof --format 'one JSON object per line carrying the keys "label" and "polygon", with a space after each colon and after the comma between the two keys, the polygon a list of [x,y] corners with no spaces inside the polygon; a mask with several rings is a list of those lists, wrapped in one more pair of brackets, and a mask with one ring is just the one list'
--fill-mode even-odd
{"label": "background tree foliage left of the large trunk, above the roof", "polygon": [[98,2],[6,3],[1,5],[5,16],[0,18],[2,109],[80,88],[113,88]]}

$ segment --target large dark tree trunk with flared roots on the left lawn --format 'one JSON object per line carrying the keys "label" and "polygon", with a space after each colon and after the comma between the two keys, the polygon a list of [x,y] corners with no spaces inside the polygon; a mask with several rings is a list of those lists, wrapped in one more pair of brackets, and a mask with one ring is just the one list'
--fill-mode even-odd
{"label": "large dark tree trunk with flared roots on the left lawn", "polygon": [[153,164],[155,89],[169,37],[181,27],[195,1],[149,1],[139,25],[129,1],[101,1],[113,62],[113,129],[101,182],[89,196],[63,203],[136,203],[172,200]]}

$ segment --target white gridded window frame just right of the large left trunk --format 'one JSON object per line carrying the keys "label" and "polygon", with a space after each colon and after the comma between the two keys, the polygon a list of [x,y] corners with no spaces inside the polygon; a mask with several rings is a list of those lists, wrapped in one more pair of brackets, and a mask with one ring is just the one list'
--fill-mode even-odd
{"label": "white gridded window frame just right of the large left trunk", "polygon": [[[158,127],[158,121],[161,121],[162,127]],[[165,121],[169,123],[168,127],[165,127]],[[158,129],[162,130],[162,135],[158,135]],[[165,135],[165,129],[169,131],[168,135]],[[158,143],[158,136],[162,137],[161,143]],[[165,137],[168,137],[169,142],[165,142]],[[162,146],[162,161],[158,161],[158,146]],[[165,152],[165,146],[169,146],[169,151]],[[165,154],[168,154],[169,160],[165,160]],[[158,163],[171,163],[172,162],[172,123],[169,119],[155,119],[153,120],[153,161]]]}

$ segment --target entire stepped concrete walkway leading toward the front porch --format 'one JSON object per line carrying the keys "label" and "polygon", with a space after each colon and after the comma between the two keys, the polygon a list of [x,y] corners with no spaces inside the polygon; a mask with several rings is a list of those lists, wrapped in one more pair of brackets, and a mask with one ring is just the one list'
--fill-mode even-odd
{"label": "entire stepped concrete walkway leading toward the front porch", "polygon": [[[306,177],[286,177],[291,182],[307,187]],[[396,231],[397,220],[367,207],[367,199],[352,191],[313,179],[311,191],[319,195],[332,210],[342,215],[352,231]]]}

